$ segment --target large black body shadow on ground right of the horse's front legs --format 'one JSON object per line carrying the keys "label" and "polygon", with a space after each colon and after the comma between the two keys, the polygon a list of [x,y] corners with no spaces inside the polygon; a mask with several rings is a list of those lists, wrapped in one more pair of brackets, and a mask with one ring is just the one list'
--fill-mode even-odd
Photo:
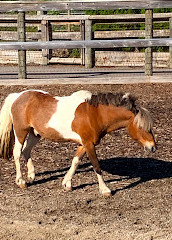
{"label": "large black body shadow on ground right of the horse's front legs", "polygon": [[172,177],[172,162],[154,158],[111,158],[102,160],[101,167],[112,175],[122,177],[107,182],[133,179],[132,183],[112,191],[113,194],[124,189],[133,188],[143,182]]}

